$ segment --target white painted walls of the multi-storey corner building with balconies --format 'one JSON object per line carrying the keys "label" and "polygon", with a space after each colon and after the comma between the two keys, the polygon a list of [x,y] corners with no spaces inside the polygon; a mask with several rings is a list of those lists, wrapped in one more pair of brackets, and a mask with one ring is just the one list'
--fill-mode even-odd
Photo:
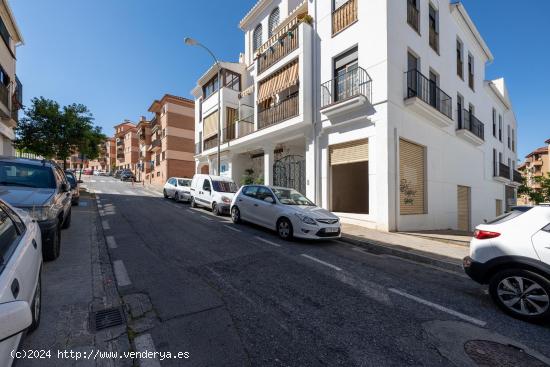
{"label": "white painted walls of the multi-storey corner building with balconies", "polygon": [[[503,164],[512,171],[515,169],[517,123],[503,79],[485,80],[485,66],[493,61],[493,56],[464,7],[460,3],[449,4],[447,0],[417,0],[420,20],[417,32],[407,21],[407,0],[355,1],[356,21],[335,35],[333,1],[260,0],[241,21],[245,53],[240,65],[243,80],[249,81],[242,89],[253,84],[254,92],[241,99],[226,98],[224,93],[222,103],[245,101],[256,106],[253,101],[258,97],[259,82],[298,58],[300,112],[291,119],[258,129],[256,106],[254,130],[257,131],[222,144],[228,167],[225,173],[240,183],[246,168],[261,166],[259,159],[263,161],[264,180],[272,183],[274,160],[285,155],[301,155],[305,160],[306,195],[318,205],[334,210],[331,147],[368,139],[368,185],[365,187],[368,213],[338,212],[343,221],[381,230],[458,229],[458,186],[470,190],[469,229],[495,216],[497,200],[501,200],[503,206],[512,205],[513,198],[506,202],[505,191],[508,187],[509,194],[515,197],[517,184],[510,179],[512,176],[499,177],[498,164],[495,176],[493,150],[497,160],[501,156]],[[429,44],[430,4],[437,13],[438,52]],[[266,42],[269,15],[276,7],[279,7],[281,23],[296,14],[294,9],[303,11],[304,7],[312,21],[300,23],[298,48],[258,75],[257,55],[252,50],[254,29],[262,24],[262,43]],[[457,39],[462,44],[463,79],[457,75]],[[335,60],[354,47],[357,47],[358,66],[372,80],[370,92],[367,96],[357,95],[324,106],[321,85],[335,78]],[[452,99],[450,117],[419,98],[406,98],[408,52],[419,59],[420,73],[429,76],[431,71],[437,75],[437,85]],[[473,57],[473,89],[468,84],[468,55]],[[200,98],[201,89],[196,88],[194,93]],[[484,124],[483,139],[459,128],[458,94],[464,100],[463,108],[468,109],[471,104],[473,114]],[[195,108],[197,134],[201,129],[198,107]],[[496,136],[492,127],[493,109]],[[499,116],[502,116],[501,139]],[[423,214],[401,214],[400,139],[424,147]],[[196,156],[199,171],[200,166],[208,163],[211,169],[215,168],[215,152],[216,149],[211,149]]]}

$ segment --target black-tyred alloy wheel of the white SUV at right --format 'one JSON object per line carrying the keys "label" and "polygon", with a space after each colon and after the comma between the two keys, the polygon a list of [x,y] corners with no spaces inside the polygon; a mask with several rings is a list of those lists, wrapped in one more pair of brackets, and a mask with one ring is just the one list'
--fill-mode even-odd
{"label": "black-tyred alloy wheel of the white SUV at right", "polygon": [[524,269],[503,270],[491,278],[493,301],[512,317],[528,322],[550,320],[550,280]]}

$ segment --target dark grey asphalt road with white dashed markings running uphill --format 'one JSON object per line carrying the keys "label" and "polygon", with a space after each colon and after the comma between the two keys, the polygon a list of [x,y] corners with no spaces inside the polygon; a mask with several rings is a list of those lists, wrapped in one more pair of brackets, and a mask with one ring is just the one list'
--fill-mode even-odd
{"label": "dark grey asphalt road with white dashed markings running uphill", "polygon": [[120,293],[151,303],[130,326],[145,336],[136,344],[188,352],[188,365],[476,365],[471,340],[499,343],[474,343],[487,365],[527,364],[514,360],[525,353],[548,363],[550,325],[502,314],[461,273],[339,241],[284,242],[140,184],[85,185],[99,197]]}

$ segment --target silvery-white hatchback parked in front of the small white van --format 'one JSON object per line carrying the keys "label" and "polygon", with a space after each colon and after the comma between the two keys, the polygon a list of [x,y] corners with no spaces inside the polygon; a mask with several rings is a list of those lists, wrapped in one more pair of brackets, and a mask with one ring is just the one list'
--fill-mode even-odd
{"label": "silvery-white hatchback parked in front of the small white van", "polygon": [[231,219],[274,229],[284,240],[339,238],[340,220],[294,189],[265,185],[241,187],[231,203]]}

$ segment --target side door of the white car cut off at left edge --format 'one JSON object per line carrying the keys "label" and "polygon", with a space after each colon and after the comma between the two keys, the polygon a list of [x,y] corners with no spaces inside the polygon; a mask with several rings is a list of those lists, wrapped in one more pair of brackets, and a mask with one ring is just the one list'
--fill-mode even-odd
{"label": "side door of the white car cut off at left edge", "polygon": [[[11,210],[12,214],[16,216]],[[0,203],[0,303],[16,300],[31,303],[40,268],[40,249],[34,248],[24,224],[17,217],[14,221],[7,206]],[[36,242],[35,242],[36,243]],[[17,349],[22,333],[0,341],[1,358]],[[3,364],[2,364],[3,365]]]}

